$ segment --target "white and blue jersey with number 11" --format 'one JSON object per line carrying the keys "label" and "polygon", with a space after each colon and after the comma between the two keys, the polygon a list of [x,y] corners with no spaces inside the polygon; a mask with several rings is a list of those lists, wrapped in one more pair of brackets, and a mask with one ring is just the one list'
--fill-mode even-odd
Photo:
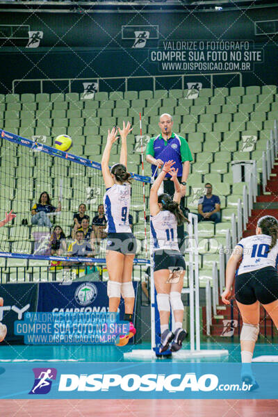
{"label": "white and blue jersey with number 11", "polygon": [[178,250],[177,219],[168,210],[151,215],[151,231],[156,250]]}

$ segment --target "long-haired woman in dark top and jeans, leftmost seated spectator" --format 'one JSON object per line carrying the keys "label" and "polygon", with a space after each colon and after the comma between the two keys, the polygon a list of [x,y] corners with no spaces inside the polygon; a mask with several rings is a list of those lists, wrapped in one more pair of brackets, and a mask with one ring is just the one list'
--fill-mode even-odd
{"label": "long-haired woman in dark top and jeans, leftmost seated spectator", "polygon": [[48,217],[48,213],[54,213],[54,211],[61,211],[62,207],[60,202],[58,202],[58,207],[52,206],[50,202],[49,194],[44,191],[39,198],[38,204],[34,204],[32,207],[32,224],[38,224],[38,226],[46,226],[51,228],[52,223]]}

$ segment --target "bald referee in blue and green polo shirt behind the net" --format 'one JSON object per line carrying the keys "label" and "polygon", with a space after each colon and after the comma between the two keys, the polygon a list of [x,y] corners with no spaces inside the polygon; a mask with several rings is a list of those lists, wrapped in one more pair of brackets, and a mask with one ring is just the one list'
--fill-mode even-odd
{"label": "bald referee in blue and green polo shirt behind the net", "polygon": [[[188,142],[177,133],[172,132],[172,116],[167,113],[161,115],[158,126],[161,128],[161,133],[149,140],[146,150],[146,160],[152,164],[152,176],[157,177],[157,167],[162,167],[163,163],[173,160],[175,161],[174,168],[178,169],[177,178],[181,183],[181,210],[185,207],[184,196],[186,195],[186,181],[189,174],[190,161],[193,161]],[[164,193],[174,196],[174,183],[170,181],[170,174],[165,175],[163,181]],[[179,249],[184,241],[183,225],[177,228]],[[183,250],[181,250],[183,253]]]}

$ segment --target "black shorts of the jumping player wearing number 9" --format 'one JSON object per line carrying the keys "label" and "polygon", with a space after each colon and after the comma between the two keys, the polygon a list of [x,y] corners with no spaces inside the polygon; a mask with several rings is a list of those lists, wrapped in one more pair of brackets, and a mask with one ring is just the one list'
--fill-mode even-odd
{"label": "black shorts of the jumping player wearing number 9", "polygon": [[124,255],[136,254],[136,237],[133,233],[108,233],[106,250],[114,250]]}

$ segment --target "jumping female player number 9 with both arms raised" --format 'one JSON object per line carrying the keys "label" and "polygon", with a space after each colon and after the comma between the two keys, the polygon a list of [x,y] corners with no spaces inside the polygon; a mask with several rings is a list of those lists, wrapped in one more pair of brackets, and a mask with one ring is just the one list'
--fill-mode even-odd
{"label": "jumping female player number 9 with both arms raised", "polygon": [[122,130],[117,128],[121,140],[120,163],[109,169],[111,148],[117,140],[117,130],[113,127],[108,130],[106,147],[101,159],[101,170],[106,186],[104,194],[104,207],[108,226],[106,231],[106,266],[108,270],[107,295],[109,297],[109,311],[116,312],[120,304],[121,295],[124,298],[124,320],[129,321],[129,334],[120,336],[117,345],[124,346],[129,338],[136,334],[133,327],[132,315],[134,307],[134,290],[131,281],[133,259],[136,254],[136,238],[129,226],[129,205],[131,199],[131,174],[126,170],[127,148],[126,136],[129,134],[131,124],[123,124]]}

